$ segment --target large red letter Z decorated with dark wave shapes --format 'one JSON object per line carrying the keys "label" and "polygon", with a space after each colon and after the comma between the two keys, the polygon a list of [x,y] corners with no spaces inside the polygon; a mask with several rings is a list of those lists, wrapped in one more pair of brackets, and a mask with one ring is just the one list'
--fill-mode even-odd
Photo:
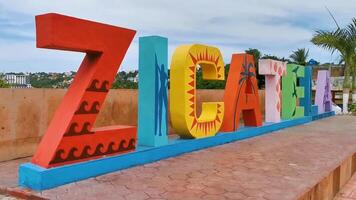
{"label": "large red letter Z decorated with dark wave shapes", "polygon": [[136,127],[93,128],[135,33],[59,14],[36,16],[37,47],[86,55],[32,163],[49,168],[135,149]]}

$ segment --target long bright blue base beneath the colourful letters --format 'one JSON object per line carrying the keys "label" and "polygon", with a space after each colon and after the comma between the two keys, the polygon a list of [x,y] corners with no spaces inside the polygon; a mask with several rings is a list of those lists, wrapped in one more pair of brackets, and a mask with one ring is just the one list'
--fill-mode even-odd
{"label": "long bright blue base beneath the colourful letters", "polygon": [[298,119],[284,120],[280,123],[265,123],[260,127],[241,127],[232,133],[218,133],[214,137],[202,139],[171,139],[166,145],[160,147],[139,146],[136,151],[127,154],[50,169],[45,169],[32,163],[24,163],[19,167],[18,184],[33,190],[46,190],[90,177],[177,156],[183,153],[267,134],[276,130],[305,124],[313,120],[333,115],[335,115],[335,112],[326,112],[313,117],[307,116]]}

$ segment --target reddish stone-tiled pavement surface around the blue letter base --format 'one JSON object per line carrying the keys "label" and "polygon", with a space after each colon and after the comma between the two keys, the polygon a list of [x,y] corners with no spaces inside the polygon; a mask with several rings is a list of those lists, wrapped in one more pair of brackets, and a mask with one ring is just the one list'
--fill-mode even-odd
{"label": "reddish stone-tiled pavement surface around the blue letter base", "polygon": [[[356,117],[332,117],[35,194],[66,200],[295,199],[356,152],[355,130]],[[0,189],[16,187],[17,165],[25,160],[0,163]]]}

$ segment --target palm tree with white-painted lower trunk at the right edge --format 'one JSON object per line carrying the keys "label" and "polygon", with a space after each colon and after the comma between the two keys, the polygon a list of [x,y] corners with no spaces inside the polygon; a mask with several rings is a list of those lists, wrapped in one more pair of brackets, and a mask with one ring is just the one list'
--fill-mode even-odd
{"label": "palm tree with white-painted lower trunk at the right edge", "polygon": [[[354,20],[354,22],[356,21]],[[316,31],[316,34],[313,36],[311,40],[311,42],[314,43],[315,45],[327,49],[331,51],[331,53],[338,51],[341,55],[341,59],[343,59],[345,62],[344,83],[343,83],[343,112],[344,113],[348,111],[347,104],[348,104],[349,92],[351,88],[350,73],[354,74],[353,71],[355,71],[353,68],[355,63],[354,59],[355,59],[356,43],[353,41],[354,40],[353,37],[351,37],[352,34],[353,33],[346,28],[344,29],[337,28],[335,31],[319,30]]]}

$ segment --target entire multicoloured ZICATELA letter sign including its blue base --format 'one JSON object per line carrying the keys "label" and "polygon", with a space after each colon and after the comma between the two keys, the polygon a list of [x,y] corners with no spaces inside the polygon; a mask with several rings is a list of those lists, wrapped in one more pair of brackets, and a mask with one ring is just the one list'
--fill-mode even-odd
{"label": "entire multicoloured ZICATELA letter sign including its blue base", "polygon": [[[303,117],[304,114],[308,117],[237,131],[241,115],[245,126],[262,126],[253,56],[232,55],[224,102],[203,102],[198,114],[197,69],[202,69],[203,79],[225,79],[219,49],[200,44],[179,46],[173,54],[168,79],[168,39],[149,36],[139,39],[138,141],[133,126],[94,128],[135,33],[59,14],[36,16],[37,47],[86,55],[31,163],[19,167],[20,186],[50,189],[334,115],[333,112],[324,113],[331,111],[328,71],[318,73],[315,102],[322,114],[317,115],[313,113],[317,106],[311,106],[311,68],[266,59],[259,61],[259,72],[266,77],[266,121],[279,122],[281,107],[282,119]],[[214,136],[220,129],[234,133],[201,140],[173,139],[166,145],[168,80],[171,125],[176,134],[182,138],[204,138]],[[137,143],[144,150],[113,156],[134,151]],[[104,158],[106,156],[109,158]]]}

